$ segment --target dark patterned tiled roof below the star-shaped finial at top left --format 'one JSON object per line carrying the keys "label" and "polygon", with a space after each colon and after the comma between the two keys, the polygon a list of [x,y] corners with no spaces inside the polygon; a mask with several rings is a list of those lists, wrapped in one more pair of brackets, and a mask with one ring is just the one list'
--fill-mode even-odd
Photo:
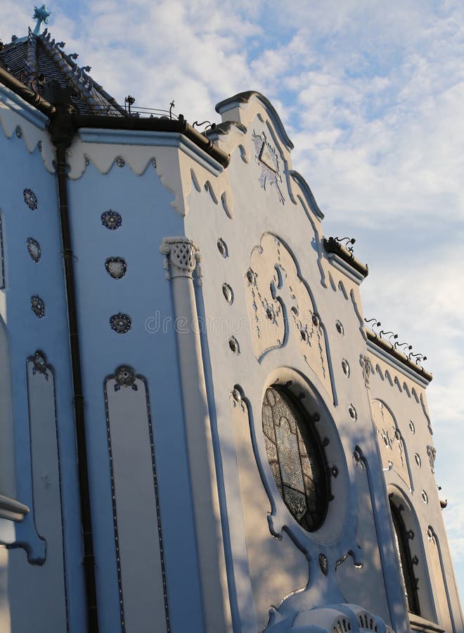
{"label": "dark patterned tiled roof below the star-shaped finial at top left", "polygon": [[79,114],[125,115],[124,108],[87,74],[87,67],[79,68],[77,55],[64,52],[64,46],[51,39],[47,30],[40,35],[29,30],[27,37],[4,46],[0,65],[41,96],[51,82],[71,89],[71,101]]}

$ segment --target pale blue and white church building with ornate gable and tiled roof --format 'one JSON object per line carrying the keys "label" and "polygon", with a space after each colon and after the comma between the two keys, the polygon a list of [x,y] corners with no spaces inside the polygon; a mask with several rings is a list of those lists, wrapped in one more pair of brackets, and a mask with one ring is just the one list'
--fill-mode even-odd
{"label": "pale blue and white church building with ornate gable and tiled roof", "polygon": [[464,630],[432,379],[257,93],[204,134],[0,50],[0,623]]}

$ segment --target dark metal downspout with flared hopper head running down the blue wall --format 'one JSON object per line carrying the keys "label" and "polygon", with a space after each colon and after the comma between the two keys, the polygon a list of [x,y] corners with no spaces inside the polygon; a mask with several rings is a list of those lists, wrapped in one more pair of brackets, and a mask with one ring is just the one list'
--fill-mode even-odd
{"label": "dark metal downspout with flared hopper head running down the blue wall", "polygon": [[66,150],[71,144],[72,137],[75,134],[75,128],[72,125],[72,106],[69,103],[66,103],[65,95],[60,94],[59,90],[56,91],[56,97],[57,103],[54,104],[56,110],[49,125],[49,132],[51,134],[51,140],[56,147],[56,176],[58,180],[58,203],[60,205],[63,263],[65,267],[67,319],[70,331],[72,388],[77,442],[77,467],[79,475],[80,510],[84,545],[83,565],[87,601],[87,623],[89,633],[98,633],[94,539],[92,536],[89,471],[87,466],[84,395],[82,393],[82,370],[79,351],[79,330],[77,324],[77,301],[69,207],[67,203]]}

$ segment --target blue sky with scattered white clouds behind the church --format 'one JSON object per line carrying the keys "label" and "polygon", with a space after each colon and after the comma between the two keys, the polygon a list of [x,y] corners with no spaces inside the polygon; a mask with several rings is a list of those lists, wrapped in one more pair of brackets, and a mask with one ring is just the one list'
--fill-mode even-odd
{"label": "blue sky with scattered white clouds behind the church", "polygon": [[[33,5],[2,0],[0,37]],[[356,238],[361,296],[427,356],[435,473],[464,601],[464,3],[462,0],[56,0],[49,30],[123,102],[219,122],[262,92],[295,144],[293,168]]]}

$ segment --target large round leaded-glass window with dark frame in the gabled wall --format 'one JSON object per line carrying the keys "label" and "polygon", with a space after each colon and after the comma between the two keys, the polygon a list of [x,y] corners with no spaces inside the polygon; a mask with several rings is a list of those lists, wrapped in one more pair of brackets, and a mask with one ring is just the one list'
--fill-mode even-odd
{"label": "large round leaded-glass window with dark frame in the gabled wall", "polygon": [[287,388],[266,389],[262,428],[271,473],[285,506],[308,532],[321,528],[330,499],[330,472],[313,420]]}

